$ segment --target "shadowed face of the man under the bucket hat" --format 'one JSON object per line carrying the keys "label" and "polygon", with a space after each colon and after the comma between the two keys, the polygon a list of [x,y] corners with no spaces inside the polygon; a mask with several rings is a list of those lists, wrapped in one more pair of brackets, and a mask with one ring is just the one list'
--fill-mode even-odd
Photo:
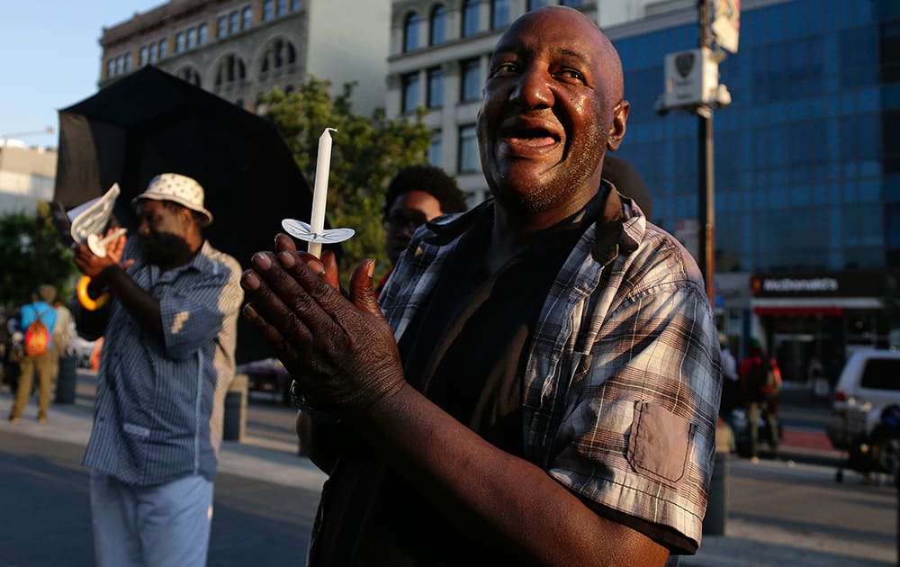
{"label": "shadowed face of the man under the bucket hat", "polygon": [[185,240],[190,211],[145,199],[138,204],[138,220],[138,235],[150,264],[168,267],[190,257],[191,250]]}

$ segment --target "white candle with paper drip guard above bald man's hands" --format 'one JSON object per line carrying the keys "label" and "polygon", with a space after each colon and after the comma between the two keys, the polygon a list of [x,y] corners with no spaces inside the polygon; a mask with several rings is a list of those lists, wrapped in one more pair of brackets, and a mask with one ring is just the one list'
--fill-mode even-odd
{"label": "white candle with paper drip guard above bald man's hands", "polygon": [[284,219],[282,228],[294,238],[309,242],[307,251],[320,257],[322,244],[343,242],[356,234],[354,229],[325,229],[325,203],[329,192],[329,170],[331,168],[331,134],[334,128],[326,128],[319,137],[319,154],[316,159],[316,181],[312,192],[312,215],[310,223],[302,220]]}

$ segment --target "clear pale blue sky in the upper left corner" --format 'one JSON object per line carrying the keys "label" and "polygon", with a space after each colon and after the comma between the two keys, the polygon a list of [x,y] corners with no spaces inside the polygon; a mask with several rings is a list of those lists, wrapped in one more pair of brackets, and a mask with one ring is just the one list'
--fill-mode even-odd
{"label": "clear pale blue sky in the upper left corner", "polygon": [[[0,137],[56,146],[57,110],[97,91],[103,26],[166,0],[0,0]],[[15,136],[14,136],[15,137]]]}

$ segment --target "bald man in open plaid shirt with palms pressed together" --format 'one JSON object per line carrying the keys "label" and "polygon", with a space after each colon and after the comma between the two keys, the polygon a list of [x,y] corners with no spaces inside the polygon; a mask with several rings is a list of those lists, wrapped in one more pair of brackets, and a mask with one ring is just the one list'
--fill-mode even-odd
{"label": "bald man in open plaid shirt with palms pressed together", "polygon": [[241,280],[247,320],[347,433],[313,566],[649,566],[700,543],[716,323],[689,253],[601,181],[630,108],[616,49],[547,6],[488,68],[492,198],[419,228],[377,300],[373,260],[347,299],[284,235]]}

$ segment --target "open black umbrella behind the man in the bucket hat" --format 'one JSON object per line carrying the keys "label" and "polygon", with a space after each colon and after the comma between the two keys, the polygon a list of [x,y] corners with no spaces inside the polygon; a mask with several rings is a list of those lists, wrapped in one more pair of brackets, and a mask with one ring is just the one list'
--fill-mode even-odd
{"label": "open black umbrella behind the man in the bucket hat", "polygon": [[[271,249],[282,219],[310,219],[310,187],[271,122],[156,67],[59,111],[54,199],[64,208],[117,182],[115,219],[136,229],[131,199],[166,172],[202,184],[215,218],[206,236],[245,267]],[[240,335],[238,360],[272,356],[253,330]]]}

